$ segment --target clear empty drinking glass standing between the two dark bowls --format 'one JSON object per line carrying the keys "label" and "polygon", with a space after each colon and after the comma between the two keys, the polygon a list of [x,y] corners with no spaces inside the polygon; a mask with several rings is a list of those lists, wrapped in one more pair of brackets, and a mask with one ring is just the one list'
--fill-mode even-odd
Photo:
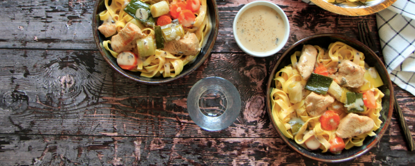
{"label": "clear empty drinking glass standing between the two dark bowls", "polygon": [[203,78],[190,89],[187,109],[192,120],[209,131],[225,129],[241,110],[241,97],[235,86],[224,78]]}

